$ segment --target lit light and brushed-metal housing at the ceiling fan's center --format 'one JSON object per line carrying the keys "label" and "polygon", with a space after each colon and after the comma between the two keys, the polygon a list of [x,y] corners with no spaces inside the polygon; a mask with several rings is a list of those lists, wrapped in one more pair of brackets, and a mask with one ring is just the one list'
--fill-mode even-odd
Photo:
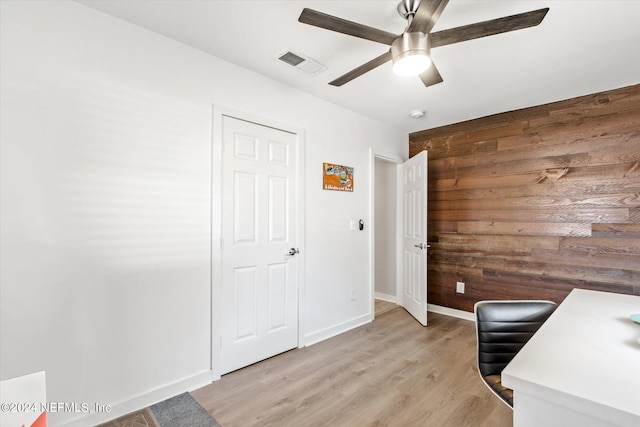
{"label": "lit light and brushed-metal housing at the ceiling fan's center", "polygon": [[431,66],[429,42],[425,33],[404,33],[391,44],[393,72],[399,76],[416,76]]}

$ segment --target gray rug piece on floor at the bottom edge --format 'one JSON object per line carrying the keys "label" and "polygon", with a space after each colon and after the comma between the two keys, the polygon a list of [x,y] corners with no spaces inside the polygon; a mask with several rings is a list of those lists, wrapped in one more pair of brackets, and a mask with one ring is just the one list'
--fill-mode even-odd
{"label": "gray rug piece on floor at the bottom edge", "polygon": [[189,393],[151,406],[160,427],[221,427]]}

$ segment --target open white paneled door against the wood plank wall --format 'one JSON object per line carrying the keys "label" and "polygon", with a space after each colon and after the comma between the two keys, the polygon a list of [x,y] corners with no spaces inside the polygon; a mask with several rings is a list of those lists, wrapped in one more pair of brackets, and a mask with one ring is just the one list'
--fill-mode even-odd
{"label": "open white paneled door against the wood plank wall", "polygon": [[402,306],[427,324],[427,152],[402,165]]}

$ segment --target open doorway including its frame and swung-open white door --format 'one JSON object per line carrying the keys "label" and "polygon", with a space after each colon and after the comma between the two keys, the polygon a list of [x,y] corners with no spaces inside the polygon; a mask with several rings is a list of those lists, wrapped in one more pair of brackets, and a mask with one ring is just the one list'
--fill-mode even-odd
{"label": "open doorway including its frame and swung-open white door", "polygon": [[371,170],[372,318],[389,301],[426,326],[427,152],[403,162],[372,150]]}

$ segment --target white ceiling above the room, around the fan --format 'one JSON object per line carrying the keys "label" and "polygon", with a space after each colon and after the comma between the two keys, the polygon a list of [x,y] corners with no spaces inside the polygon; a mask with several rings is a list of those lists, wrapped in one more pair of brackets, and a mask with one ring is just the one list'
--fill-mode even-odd
{"label": "white ceiling above the room, around the fan", "polygon": [[[407,132],[640,83],[638,0],[450,0],[434,32],[550,11],[537,27],[433,49],[444,82],[431,87],[393,75],[390,63],[330,86],[388,46],[298,22],[308,7],[400,34],[397,0],[78,1]],[[288,50],[327,70],[309,76],[278,61]]]}

